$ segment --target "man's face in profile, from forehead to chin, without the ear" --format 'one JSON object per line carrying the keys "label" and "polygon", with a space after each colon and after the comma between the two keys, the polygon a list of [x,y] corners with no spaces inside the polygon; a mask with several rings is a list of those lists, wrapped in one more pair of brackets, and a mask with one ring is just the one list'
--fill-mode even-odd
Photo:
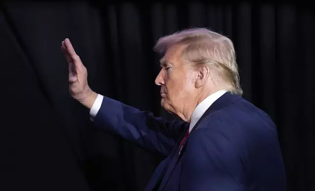
{"label": "man's face in profile, from forehead to chin, without the ear", "polygon": [[195,95],[195,76],[191,64],[183,63],[183,46],[169,48],[161,59],[161,71],[155,83],[161,86],[161,106],[170,113],[183,118],[185,107]]}

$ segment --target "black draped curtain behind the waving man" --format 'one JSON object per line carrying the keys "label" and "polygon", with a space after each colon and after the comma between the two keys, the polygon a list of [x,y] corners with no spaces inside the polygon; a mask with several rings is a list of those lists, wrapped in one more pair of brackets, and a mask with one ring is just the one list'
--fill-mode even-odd
{"label": "black draped curtain behind the waving man", "polygon": [[233,40],[244,98],[278,127],[288,191],[314,191],[312,5],[175,1],[1,4],[0,190],[143,190],[161,156],[93,128],[68,94],[61,41],[71,40],[94,91],[171,118],[159,106],[152,48],[188,27]]}

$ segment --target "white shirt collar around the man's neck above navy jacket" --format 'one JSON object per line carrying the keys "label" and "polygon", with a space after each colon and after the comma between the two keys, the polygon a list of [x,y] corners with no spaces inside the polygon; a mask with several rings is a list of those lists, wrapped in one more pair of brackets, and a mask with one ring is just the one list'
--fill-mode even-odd
{"label": "white shirt collar around the man's neck above navy jacket", "polygon": [[202,102],[200,102],[195,110],[193,111],[191,118],[190,118],[190,124],[189,124],[189,133],[194,128],[198,120],[203,116],[205,111],[221,96],[223,96],[227,91],[226,90],[220,90],[218,92],[215,92],[211,94],[210,96],[203,99]]}

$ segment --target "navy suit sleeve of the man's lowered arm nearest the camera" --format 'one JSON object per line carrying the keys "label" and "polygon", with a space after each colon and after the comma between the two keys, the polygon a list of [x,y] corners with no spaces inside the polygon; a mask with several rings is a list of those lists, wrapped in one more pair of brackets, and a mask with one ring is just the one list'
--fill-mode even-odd
{"label": "navy suit sleeve of the man's lowered arm nearest the camera", "polygon": [[199,129],[183,156],[180,191],[243,191],[244,168],[237,146],[220,131]]}

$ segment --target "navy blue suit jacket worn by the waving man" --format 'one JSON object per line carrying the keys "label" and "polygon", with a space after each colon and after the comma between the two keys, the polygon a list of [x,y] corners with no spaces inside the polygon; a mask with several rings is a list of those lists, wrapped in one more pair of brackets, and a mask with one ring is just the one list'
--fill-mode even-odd
{"label": "navy blue suit jacket worn by the waving man", "polygon": [[97,127],[165,155],[145,191],[285,191],[285,169],[270,117],[225,93],[184,141],[189,124],[167,121],[105,97]]}

